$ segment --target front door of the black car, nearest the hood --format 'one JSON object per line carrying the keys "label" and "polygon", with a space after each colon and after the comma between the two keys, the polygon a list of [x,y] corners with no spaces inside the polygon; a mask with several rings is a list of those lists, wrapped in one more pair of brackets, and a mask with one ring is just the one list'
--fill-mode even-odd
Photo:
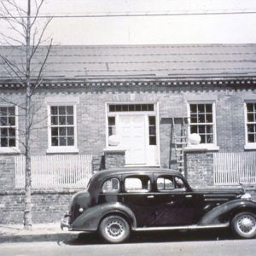
{"label": "front door of the black car, nearest the hood", "polygon": [[154,180],[154,226],[196,224],[200,202],[196,201],[197,196],[183,183],[183,179],[175,175],[154,174]]}

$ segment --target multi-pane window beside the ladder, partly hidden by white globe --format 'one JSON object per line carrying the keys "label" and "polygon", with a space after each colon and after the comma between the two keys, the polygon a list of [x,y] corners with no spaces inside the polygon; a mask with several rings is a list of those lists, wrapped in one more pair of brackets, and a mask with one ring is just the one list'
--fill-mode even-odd
{"label": "multi-pane window beside the ladder, partly hidden by white globe", "polygon": [[215,144],[215,113],[213,103],[189,103],[189,133],[197,133],[201,144]]}

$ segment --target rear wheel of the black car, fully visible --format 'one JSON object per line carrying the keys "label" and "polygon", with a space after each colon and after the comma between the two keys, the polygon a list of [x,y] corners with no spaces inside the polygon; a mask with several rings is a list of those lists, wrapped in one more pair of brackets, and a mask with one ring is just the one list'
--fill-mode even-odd
{"label": "rear wheel of the black car, fully visible", "polygon": [[128,239],[131,231],[125,218],[111,215],[102,219],[99,232],[105,241],[118,243]]}

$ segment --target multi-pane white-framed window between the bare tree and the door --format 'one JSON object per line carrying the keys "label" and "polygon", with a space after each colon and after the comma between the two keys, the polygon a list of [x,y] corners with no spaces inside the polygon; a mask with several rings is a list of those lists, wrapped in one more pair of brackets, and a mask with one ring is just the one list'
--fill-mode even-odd
{"label": "multi-pane white-framed window between the bare tree and the door", "polygon": [[50,146],[74,147],[75,106],[50,106]]}

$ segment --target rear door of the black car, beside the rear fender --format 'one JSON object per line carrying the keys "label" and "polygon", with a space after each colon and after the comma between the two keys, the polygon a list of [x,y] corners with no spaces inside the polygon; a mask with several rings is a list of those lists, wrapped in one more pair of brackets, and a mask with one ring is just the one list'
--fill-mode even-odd
{"label": "rear door of the black car, beside the rear fender", "polygon": [[152,192],[153,175],[123,175],[122,202],[134,213],[137,227],[154,225],[154,193]]}

